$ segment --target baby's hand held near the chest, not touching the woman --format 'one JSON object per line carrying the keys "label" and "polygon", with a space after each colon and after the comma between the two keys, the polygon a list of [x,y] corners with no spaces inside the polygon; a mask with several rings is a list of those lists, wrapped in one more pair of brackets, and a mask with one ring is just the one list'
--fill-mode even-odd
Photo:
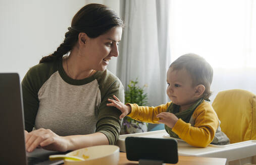
{"label": "baby's hand held near the chest, not touching the woman", "polygon": [[158,114],[157,117],[160,118],[158,121],[159,123],[164,123],[170,128],[173,128],[176,122],[179,120],[177,116],[170,112],[162,112]]}

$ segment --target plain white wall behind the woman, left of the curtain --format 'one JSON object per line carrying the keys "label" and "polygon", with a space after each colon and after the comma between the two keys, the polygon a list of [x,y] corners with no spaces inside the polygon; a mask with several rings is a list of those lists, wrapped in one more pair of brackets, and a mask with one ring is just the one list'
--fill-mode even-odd
{"label": "plain white wall behind the woman, left of the curtain", "polygon": [[[18,72],[22,79],[42,56],[57,49],[75,13],[88,3],[106,4],[119,10],[116,0],[1,0],[0,72]],[[109,69],[115,73],[116,59],[111,61]]]}

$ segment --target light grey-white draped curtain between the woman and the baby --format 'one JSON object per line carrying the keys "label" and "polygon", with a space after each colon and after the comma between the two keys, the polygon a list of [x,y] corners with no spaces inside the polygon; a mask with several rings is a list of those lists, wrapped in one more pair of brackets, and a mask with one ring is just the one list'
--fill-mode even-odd
{"label": "light grey-white draped curtain between the woman and the baby", "polygon": [[120,1],[120,15],[125,22],[117,76],[127,88],[138,78],[145,88],[150,106],[167,102],[166,71],[170,65],[169,1]]}

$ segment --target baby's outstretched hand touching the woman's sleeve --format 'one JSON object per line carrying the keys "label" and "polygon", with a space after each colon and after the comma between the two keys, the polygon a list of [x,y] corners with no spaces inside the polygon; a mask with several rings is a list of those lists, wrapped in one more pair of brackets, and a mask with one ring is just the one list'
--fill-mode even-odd
{"label": "baby's outstretched hand touching the woman's sleeve", "polygon": [[108,99],[111,103],[108,103],[107,106],[113,106],[119,109],[122,112],[119,118],[122,119],[131,112],[131,107],[123,104],[115,95],[113,97],[115,100]]}

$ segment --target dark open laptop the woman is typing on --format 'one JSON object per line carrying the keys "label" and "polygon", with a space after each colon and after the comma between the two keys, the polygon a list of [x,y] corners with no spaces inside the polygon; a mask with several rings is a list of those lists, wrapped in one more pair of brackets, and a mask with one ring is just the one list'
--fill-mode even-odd
{"label": "dark open laptop the woman is typing on", "polygon": [[24,138],[23,99],[18,73],[0,73],[0,164],[62,164],[50,161],[52,154],[65,154],[36,148],[26,152]]}

